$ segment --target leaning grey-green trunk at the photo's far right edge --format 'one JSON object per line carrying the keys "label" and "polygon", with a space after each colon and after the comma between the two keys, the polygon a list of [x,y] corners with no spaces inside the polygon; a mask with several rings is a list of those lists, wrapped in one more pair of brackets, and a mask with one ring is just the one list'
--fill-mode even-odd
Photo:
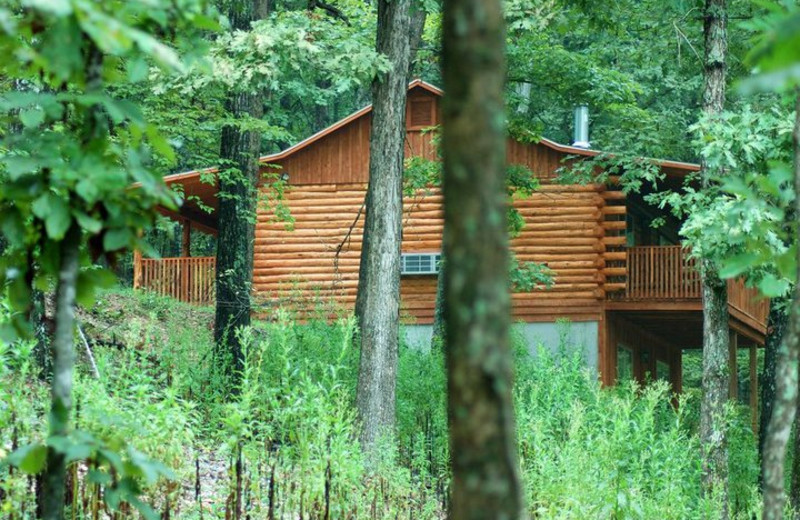
{"label": "leaning grey-green trunk at the photo's far right edge", "polygon": [[[800,93],[797,96],[794,124],[795,229],[800,222]],[[797,236],[795,236],[797,240]],[[800,249],[798,249],[800,260]],[[797,280],[800,281],[800,262]],[[784,462],[786,445],[797,406],[797,362],[800,349],[800,283],[796,283],[789,309],[789,328],[778,347],[775,363],[775,401],[767,426],[761,472],[764,475],[764,520],[783,518]]]}

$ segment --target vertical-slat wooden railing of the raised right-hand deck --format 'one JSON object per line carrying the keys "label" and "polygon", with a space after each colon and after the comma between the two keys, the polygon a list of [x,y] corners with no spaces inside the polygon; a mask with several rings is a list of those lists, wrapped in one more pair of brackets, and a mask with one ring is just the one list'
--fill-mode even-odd
{"label": "vertical-slat wooden railing of the raised right-hand deck", "polygon": [[[702,286],[696,262],[681,246],[637,246],[628,248],[627,279],[615,299],[633,301],[700,300]],[[765,324],[769,301],[744,280],[728,281],[728,305]]]}

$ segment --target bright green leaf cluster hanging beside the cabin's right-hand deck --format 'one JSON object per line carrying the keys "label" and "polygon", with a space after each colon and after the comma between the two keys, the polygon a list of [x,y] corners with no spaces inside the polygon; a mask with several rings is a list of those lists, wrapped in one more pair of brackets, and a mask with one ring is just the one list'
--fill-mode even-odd
{"label": "bright green leaf cluster hanging beside the cabin's right-hand deck", "polygon": [[701,120],[695,144],[721,172],[718,188],[651,197],[686,217],[681,233],[693,254],[716,262],[725,278],[746,276],[770,297],[785,294],[796,275],[787,211],[795,197],[787,166],[792,116],[779,104],[759,111],[745,105]]}

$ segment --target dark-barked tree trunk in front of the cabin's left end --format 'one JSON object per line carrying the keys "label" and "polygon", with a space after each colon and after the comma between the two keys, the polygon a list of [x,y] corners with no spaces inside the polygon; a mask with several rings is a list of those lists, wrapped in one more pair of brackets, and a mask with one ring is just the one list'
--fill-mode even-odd
{"label": "dark-barked tree trunk in front of the cabin's left end", "polygon": [[[253,21],[267,16],[268,12],[266,0],[236,0],[230,6],[228,18],[232,29],[246,31]],[[229,93],[225,108],[236,120],[261,119],[264,115],[260,93],[246,88]],[[222,127],[214,341],[217,367],[234,388],[244,368],[238,330],[250,325],[260,153],[260,132],[243,130],[237,123]]]}

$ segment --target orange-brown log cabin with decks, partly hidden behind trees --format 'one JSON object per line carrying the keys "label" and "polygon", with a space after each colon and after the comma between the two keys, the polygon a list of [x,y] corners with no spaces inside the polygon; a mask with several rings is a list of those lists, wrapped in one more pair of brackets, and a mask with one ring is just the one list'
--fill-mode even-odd
{"label": "orange-brown log cabin with decks, partly hidden behind trees", "polygon": [[[407,157],[436,160],[432,134],[439,123],[442,91],[420,80],[408,89]],[[371,107],[365,107],[311,137],[261,158],[265,172],[286,181],[285,204],[293,229],[258,210],[253,246],[252,287],[258,312],[320,301],[352,308],[358,283],[363,205],[368,180]],[[525,221],[511,241],[520,262],[540,262],[554,273],[547,289],[513,294],[513,317],[529,343],[553,343],[560,334],[580,345],[604,384],[618,379],[665,379],[681,389],[681,354],[702,344],[700,278],[681,246],[679,223],[654,229],[657,210],[640,195],[613,185],[557,182],[565,162],[600,152],[547,139],[508,140],[509,164],[529,168],[540,180],[530,197],[515,198]],[[668,182],[680,183],[696,164],[653,160]],[[169,217],[184,224],[180,258],[135,255],[134,285],[194,303],[213,300],[214,258],[189,256],[191,230],[216,231],[214,170],[171,175],[186,202]],[[270,183],[260,187],[267,196]],[[436,298],[437,255],[441,248],[442,197],[437,188],[404,200],[401,299],[409,335],[430,334]],[[741,280],[729,282],[731,360],[737,349],[750,354],[748,389],[755,410],[756,347],[766,334],[768,302]],[[560,325],[565,320],[568,327]],[[563,330],[562,330],[563,329]],[[734,376],[738,371],[734,371]],[[738,385],[732,378],[731,394]],[[755,413],[755,411],[754,411]],[[754,415],[755,417],[755,415]]]}

